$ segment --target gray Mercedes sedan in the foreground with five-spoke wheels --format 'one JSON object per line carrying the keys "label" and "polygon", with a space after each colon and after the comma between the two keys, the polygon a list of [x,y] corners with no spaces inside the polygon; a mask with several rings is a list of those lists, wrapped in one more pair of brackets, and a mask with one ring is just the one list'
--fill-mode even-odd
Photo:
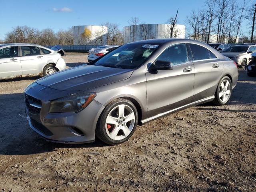
{"label": "gray Mercedes sedan in the foreground with five-spoke wheels", "polygon": [[30,84],[26,113],[30,127],[49,141],[97,136],[120,144],[137,125],[205,102],[226,104],[237,80],[236,63],[207,44],[143,40]]}

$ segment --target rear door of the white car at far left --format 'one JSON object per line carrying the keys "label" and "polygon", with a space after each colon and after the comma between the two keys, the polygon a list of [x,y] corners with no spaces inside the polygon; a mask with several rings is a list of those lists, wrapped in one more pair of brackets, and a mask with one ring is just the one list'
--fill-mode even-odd
{"label": "rear door of the white car at far left", "polygon": [[36,74],[42,72],[43,66],[46,64],[43,53],[37,46],[20,46],[22,56],[20,62],[23,75]]}

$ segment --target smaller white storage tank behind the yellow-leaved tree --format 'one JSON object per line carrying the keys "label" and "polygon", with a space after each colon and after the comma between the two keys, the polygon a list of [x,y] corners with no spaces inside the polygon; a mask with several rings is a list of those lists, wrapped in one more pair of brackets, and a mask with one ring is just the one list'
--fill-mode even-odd
{"label": "smaller white storage tank behind the yellow-leaved tree", "polygon": [[74,45],[105,45],[107,44],[108,28],[99,25],[73,26]]}

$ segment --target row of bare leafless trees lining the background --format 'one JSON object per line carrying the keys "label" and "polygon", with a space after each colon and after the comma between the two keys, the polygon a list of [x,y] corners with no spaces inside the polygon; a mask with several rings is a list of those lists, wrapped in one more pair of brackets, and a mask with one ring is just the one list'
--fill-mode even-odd
{"label": "row of bare leafless trees lining the background", "polygon": [[[186,17],[186,38],[199,40],[205,43],[242,43],[256,42],[255,18],[256,2],[252,0],[210,0],[204,2],[199,10],[192,10]],[[247,28],[242,28],[243,23]],[[142,31],[142,39],[154,38],[145,22],[139,22],[138,17],[132,17],[128,23],[136,26],[132,28],[132,38],[135,40],[137,27]],[[163,38],[176,38],[180,32],[176,28],[178,23],[178,10],[171,16],[166,24],[167,30]],[[84,31],[78,44],[103,44],[106,36],[107,44],[123,44],[123,32],[115,23],[103,23],[105,28],[95,32],[92,42],[92,33]],[[29,26],[16,26],[6,34],[6,43],[35,43],[41,45],[72,45],[74,36],[72,29],[54,32],[50,28],[38,30]]]}

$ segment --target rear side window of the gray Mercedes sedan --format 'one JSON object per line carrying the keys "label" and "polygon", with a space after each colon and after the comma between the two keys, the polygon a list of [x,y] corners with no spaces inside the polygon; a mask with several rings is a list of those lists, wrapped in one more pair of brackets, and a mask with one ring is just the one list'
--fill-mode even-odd
{"label": "rear side window of the gray Mercedes sedan", "polygon": [[217,58],[210,50],[196,44],[189,44],[194,60]]}

